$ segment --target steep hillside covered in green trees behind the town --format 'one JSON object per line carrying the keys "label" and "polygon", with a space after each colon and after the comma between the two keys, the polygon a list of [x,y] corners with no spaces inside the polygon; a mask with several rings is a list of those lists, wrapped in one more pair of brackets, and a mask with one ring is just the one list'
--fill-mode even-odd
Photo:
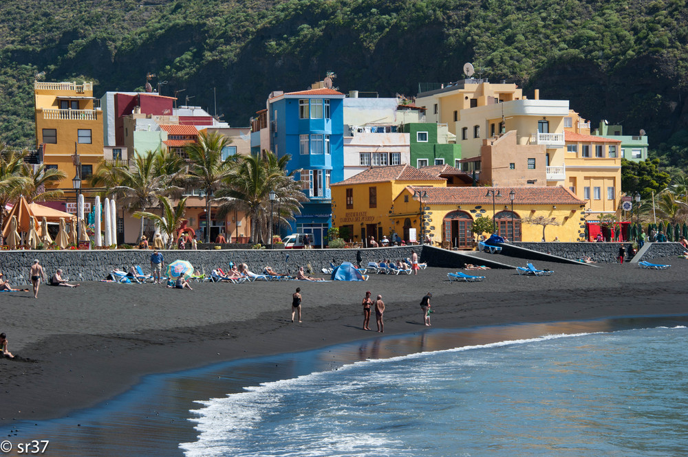
{"label": "steep hillside covered in green trees behind the town", "polygon": [[0,137],[32,144],[34,71],[96,80],[97,96],[140,88],[151,72],[164,95],[185,89],[182,104],[211,112],[216,87],[218,113],[246,126],[270,91],[325,71],[342,91],[413,96],[473,62],[688,150],[687,15],[685,0],[5,0]]}

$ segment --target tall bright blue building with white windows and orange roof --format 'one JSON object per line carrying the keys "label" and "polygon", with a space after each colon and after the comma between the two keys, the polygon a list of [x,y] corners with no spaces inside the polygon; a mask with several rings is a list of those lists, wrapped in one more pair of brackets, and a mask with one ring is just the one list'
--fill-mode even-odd
{"label": "tall bright blue building with white windows and orange roof", "polygon": [[309,198],[292,232],[312,234],[314,246],[323,244],[332,225],[330,183],[344,179],[343,102],[343,93],[327,87],[277,91],[268,98],[270,150],[278,157],[291,155],[288,170],[301,170],[296,179]]}

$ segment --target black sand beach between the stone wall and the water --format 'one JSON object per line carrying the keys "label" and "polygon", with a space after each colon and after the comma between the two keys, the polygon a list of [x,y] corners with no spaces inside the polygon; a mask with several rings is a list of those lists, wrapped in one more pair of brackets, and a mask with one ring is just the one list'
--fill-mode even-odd
{"label": "black sand beach between the stone wall and the water", "polygon": [[[41,285],[38,300],[28,292],[2,293],[0,331],[12,353],[31,361],[0,360],[0,422],[63,416],[150,373],[376,337],[361,329],[367,290],[387,304],[385,334],[425,330],[418,303],[427,291],[435,328],[685,314],[688,262],[658,263],[673,266],[537,263],[555,273],[477,271],[487,278],[476,283],[450,283],[451,270],[429,268],[367,282],[195,283],[193,291],[86,282],[76,289]],[[296,287],[303,294],[302,324],[290,322]]]}

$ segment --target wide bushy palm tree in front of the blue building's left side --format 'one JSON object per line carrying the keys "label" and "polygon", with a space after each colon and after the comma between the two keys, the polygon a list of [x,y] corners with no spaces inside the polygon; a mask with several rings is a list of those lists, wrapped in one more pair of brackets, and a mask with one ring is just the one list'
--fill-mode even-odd
{"label": "wide bushy palm tree in front of the blue building's left side", "polygon": [[[278,159],[270,151],[241,157],[225,181],[226,188],[217,192],[217,200],[223,202],[218,209],[220,216],[237,209],[250,218],[251,243],[255,243],[258,232],[265,239],[270,222],[270,190],[277,193],[281,214],[299,212],[300,202],[308,199],[301,191],[299,181],[294,181],[293,175],[286,172],[290,158],[290,155],[284,155]],[[278,218],[283,219],[281,215]]]}

